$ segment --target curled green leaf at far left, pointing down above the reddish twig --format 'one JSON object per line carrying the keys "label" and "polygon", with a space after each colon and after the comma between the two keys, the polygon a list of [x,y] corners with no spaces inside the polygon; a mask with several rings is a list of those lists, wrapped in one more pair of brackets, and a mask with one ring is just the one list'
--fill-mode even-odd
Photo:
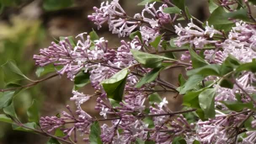
{"label": "curled green leaf at far left, pointing down above the reddish twig", "polygon": [[[5,64],[2,66],[3,72],[4,72],[4,79],[5,82],[8,83],[13,83],[21,79],[27,79],[30,80],[28,77],[26,77],[21,70],[16,66],[15,61],[10,60],[7,61]],[[31,80],[30,80],[31,81]]]}

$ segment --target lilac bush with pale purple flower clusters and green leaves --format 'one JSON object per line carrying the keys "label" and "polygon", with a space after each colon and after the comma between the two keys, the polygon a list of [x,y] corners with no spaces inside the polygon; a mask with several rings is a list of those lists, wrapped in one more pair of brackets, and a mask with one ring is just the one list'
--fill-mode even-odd
{"label": "lilac bush with pale purple flower clusters and green leaves", "polygon": [[[2,89],[2,97],[60,75],[74,81],[70,101],[76,109],[67,106],[66,112],[39,120],[31,112],[32,104],[29,123],[24,124],[8,102],[1,104],[2,121],[49,136],[52,143],[256,143],[256,19],[251,14],[255,1],[209,0],[211,15],[205,22],[189,13],[184,0],[157,2],[162,5],[155,6],[154,0],[139,3],[145,8],[134,16],[128,16],[118,0],[93,7],[88,19],[98,29],[107,24],[113,34],[130,41],[109,48],[108,40],[92,31],[76,40],[53,42],[33,59],[39,75],[47,66],[55,67],[55,75],[34,81],[12,62],[3,65],[32,83]],[[180,56],[181,51],[185,53]],[[179,74],[178,85],[159,76],[175,68],[187,70],[187,78]],[[79,90],[87,84],[95,89],[93,95]],[[182,96],[183,108],[173,112],[167,96],[162,99],[158,92]],[[83,110],[92,97],[97,97],[100,117]]]}

